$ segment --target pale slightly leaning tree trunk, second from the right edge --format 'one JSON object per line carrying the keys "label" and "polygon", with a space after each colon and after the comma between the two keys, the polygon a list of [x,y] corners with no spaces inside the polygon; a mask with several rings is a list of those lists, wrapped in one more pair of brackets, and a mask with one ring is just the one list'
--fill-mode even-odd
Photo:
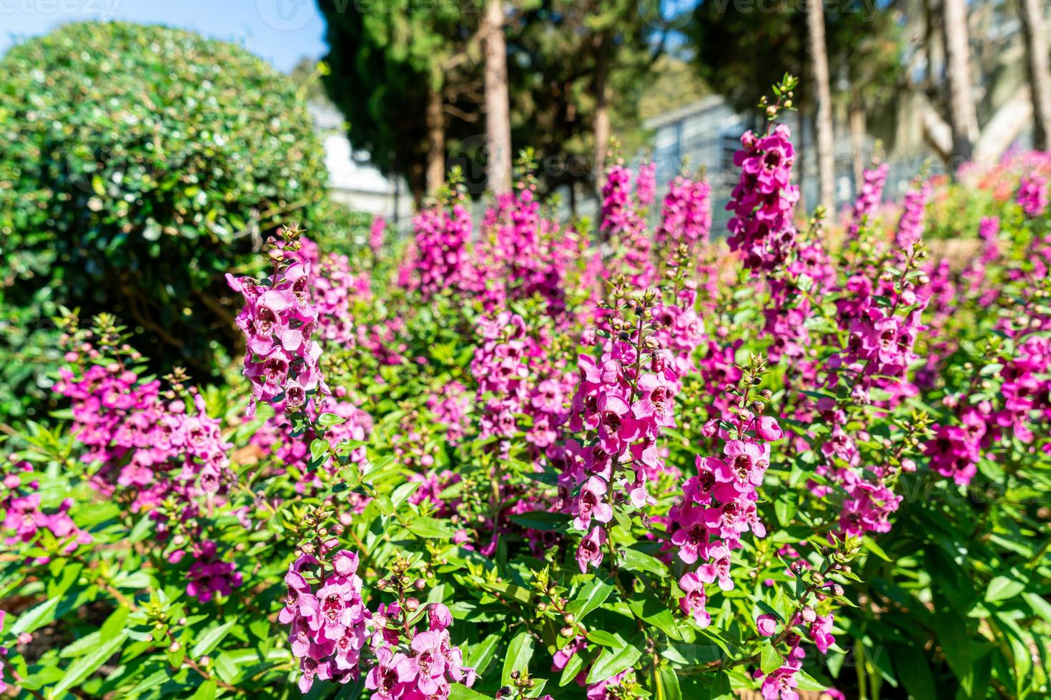
{"label": "pale slightly leaning tree trunk, second from the right edge", "polygon": [[[945,63],[949,82],[949,125],[952,155],[971,157],[977,140],[978,120],[971,90],[971,47],[967,30],[967,0],[942,0],[945,31]],[[955,164],[960,165],[960,163]]]}

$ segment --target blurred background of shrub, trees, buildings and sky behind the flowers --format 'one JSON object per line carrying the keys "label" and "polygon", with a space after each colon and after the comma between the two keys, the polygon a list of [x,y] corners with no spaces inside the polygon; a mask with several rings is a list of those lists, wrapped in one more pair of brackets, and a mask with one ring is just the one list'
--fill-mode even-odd
{"label": "blurred background of shrub, trees, buildings and sky behind the flowers", "polygon": [[379,215],[404,233],[453,168],[480,210],[524,148],[565,218],[594,216],[611,157],[653,160],[659,187],[703,171],[719,232],[737,140],[785,72],[800,78],[787,123],[805,211],[847,206],[873,157],[888,200],[921,173],[1003,168],[1047,146],[1047,14],[1042,0],[3,0],[0,420],[54,408],[61,306],[112,312],[156,369],[218,380],[239,349],[218,272],[250,271],[280,222],[353,239]]}

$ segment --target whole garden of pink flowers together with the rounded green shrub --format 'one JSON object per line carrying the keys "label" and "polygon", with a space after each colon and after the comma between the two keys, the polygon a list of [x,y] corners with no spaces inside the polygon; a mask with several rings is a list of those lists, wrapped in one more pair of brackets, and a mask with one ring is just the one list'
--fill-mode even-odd
{"label": "whole garden of pink flowers together with the rounded green shrub", "polygon": [[240,47],[0,68],[0,694],[1051,695],[1051,154],[806,211],[785,76],[725,228],[527,149],[399,235]]}

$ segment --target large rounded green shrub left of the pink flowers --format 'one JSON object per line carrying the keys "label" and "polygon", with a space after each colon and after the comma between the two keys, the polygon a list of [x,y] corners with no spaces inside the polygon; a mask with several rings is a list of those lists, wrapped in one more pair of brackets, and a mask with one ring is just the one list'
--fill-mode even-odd
{"label": "large rounded green shrub left of the pink flowers", "polygon": [[239,342],[223,273],[326,199],[301,97],[162,26],[68,24],[0,60],[0,352],[34,363],[2,370],[0,419],[36,408],[57,304],[127,319],[154,369],[218,373]]}

